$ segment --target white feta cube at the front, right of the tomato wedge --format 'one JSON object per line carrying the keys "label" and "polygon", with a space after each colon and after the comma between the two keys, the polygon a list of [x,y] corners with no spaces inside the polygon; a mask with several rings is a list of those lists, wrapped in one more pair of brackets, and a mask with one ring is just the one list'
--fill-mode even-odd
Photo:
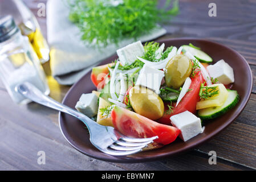
{"label": "white feta cube at the front, right of the tomato wedge", "polygon": [[186,142],[190,138],[196,137],[202,131],[201,119],[196,115],[185,111],[170,117],[173,126],[181,130],[179,137]]}

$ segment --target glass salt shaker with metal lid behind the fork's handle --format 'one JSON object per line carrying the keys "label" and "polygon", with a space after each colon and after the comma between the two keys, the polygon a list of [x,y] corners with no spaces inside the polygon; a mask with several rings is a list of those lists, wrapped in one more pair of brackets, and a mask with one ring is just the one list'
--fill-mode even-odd
{"label": "glass salt shaker with metal lid behind the fork's handle", "polygon": [[17,104],[30,102],[15,92],[15,86],[23,82],[30,82],[46,95],[50,93],[43,68],[29,38],[21,34],[10,15],[0,17],[0,77]]}

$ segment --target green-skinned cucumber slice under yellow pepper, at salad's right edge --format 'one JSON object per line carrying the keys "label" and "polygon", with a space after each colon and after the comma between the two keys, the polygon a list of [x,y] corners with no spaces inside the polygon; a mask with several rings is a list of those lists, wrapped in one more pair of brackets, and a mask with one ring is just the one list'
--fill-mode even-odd
{"label": "green-skinned cucumber slice under yellow pepper, at salad's right edge", "polygon": [[229,90],[229,96],[227,97],[226,102],[222,106],[218,107],[208,107],[205,109],[198,110],[198,117],[201,119],[213,119],[217,118],[222,114],[225,114],[227,111],[232,109],[235,105],[237,105],[239,101],[239,95],[236,90]]}

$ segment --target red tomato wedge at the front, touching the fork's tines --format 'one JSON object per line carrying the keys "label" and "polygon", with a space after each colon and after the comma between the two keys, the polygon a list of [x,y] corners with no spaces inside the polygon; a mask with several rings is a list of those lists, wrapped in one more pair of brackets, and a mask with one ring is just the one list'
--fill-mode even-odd
{"label": "red tomato wedge at the front, touching the fork's tines", "polygon": [[115,129],[128,137],[149,138],[158,136],[159,138],[155,139],[155,142],[169,144],[180,134],[180,130],[176,127],[162,125],[119,106],[113,108],[111,118]]}

